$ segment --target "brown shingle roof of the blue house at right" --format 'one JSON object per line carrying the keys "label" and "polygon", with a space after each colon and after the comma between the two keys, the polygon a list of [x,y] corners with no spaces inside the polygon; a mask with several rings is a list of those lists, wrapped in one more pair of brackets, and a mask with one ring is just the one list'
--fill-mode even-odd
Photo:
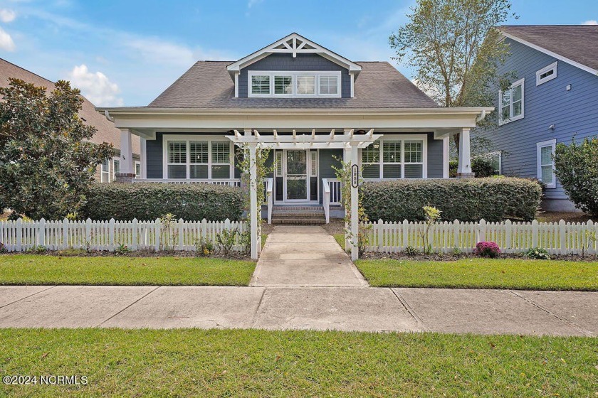
{"label": "brown shingle roof of the blue house at right", "polygon": [[598,25],[499,26],[498,29],[598,70]]}

